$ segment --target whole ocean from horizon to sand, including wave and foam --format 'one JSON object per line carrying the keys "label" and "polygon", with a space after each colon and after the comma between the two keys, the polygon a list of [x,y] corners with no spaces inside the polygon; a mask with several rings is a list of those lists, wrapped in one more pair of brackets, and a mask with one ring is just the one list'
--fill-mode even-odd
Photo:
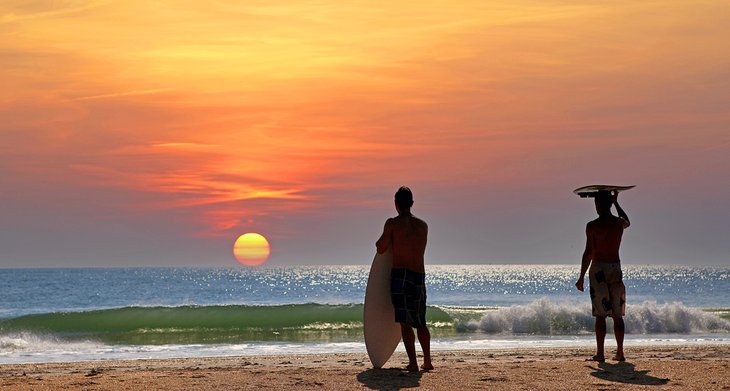
{"label": "whole ocean from horizon to sand, including wave and foam", "polygon": [[[623,269],[627,346],[730,344],[730,267]],[[368,271],[0,269],[0,364],[364,353]],[[578,271],[427,265],[432,350],[594,346]]]}

